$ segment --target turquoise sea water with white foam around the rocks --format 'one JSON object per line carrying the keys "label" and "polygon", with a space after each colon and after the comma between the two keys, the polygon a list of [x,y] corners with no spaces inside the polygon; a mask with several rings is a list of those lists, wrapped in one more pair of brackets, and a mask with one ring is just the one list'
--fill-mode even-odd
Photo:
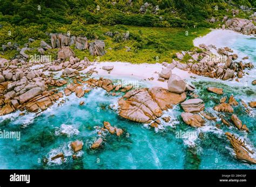
{"label": "turquoise sea water with white foam around the rocks", "polygon": [[[241,41],[240,41],[241,40]],[[241,38],[240,45],[231,46],[254,59],[256,62],[255,40]],[[244,42],[244,43],[242,43]],[[246,49],[241,45],[247,45]],[[254,48],[253,48],[254,46]],[[255,75],[252,75],[255,76]],[[209,86],[224,88],[224,96],[234,94],[235,99],[249,102],[255,100],[255,87],[240,84],[226,84],[191,80],[196,86],[196,93],[204,100],[206,111],[218,116],[212,107],[219,103],[223,96],[209,93]],[[142,82],[139,83],[144,86]],[[180,117],[183,112],[180,106],[165,112],[171,116],[171,123],[163,123],[156,131],[153,128],[120,118],[117,115],[117,99],[103,89],[94,89],[82,98],[74,94],[64,97],[65,103],[51,106],[48,110],[35,114],[26,113],[18,116],[19,111],[0,117],[1,131],[20,131],[21,140],[0,139],[0,169],[256,169],[256,166],[240,162],[232,155],[230,142],[225,132],[245,138],[248,145],[256,147],[256,110],[248,116],[241,104],[234,107],[234,113],[250,130],[250,133],[238,131],[235,127],[221,125],[219,121],[207,121],[203,128],[193,128]],[[85,105],[79,103],[84,100]],[[230,114],[225,114],[226,118]],[[92,150],[90,146],[97,138],[96,126],[103,126],[109,121],[112,126],[122,128],[124,133],[117,137],[107,134],[101,148]],[[62,124],[71,125],[76,134],[70,136],[58,133]],[[176,138],[176,132],[196,132],[197,138]],[[199,133],[203,133],[203,138]],[[83,150],[79,159],[72,159],[70,142],[83,140]],[[255,150],[255,149],[254,149]],[[64,162],[43,163],[59,152],[65,154]]]}

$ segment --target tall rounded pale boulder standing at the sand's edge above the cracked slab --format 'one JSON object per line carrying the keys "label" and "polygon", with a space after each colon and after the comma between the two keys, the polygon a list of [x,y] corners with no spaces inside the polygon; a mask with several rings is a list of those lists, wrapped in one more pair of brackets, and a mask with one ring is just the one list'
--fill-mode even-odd
{"label": "tall rounded pale boulder standing at the sand's edge above the cracked slab", "polygon": [[182,93],[186,90],[186,82],[176,74],[172,74],[168,80],[168,90],[173,93]]}

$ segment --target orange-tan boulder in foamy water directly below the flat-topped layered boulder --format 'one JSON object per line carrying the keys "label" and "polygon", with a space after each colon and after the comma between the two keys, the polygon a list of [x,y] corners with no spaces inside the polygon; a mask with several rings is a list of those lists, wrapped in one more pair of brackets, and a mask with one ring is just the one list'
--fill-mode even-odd
{"label": "orange-tan boulder in foamy water directly below the flat-topped layered boulder", "polygon": [[181,118],[183,121],[192,127],[202,127],[204,126],[205,121],[198,114],[193,114],[190,112],[181,113]]}

